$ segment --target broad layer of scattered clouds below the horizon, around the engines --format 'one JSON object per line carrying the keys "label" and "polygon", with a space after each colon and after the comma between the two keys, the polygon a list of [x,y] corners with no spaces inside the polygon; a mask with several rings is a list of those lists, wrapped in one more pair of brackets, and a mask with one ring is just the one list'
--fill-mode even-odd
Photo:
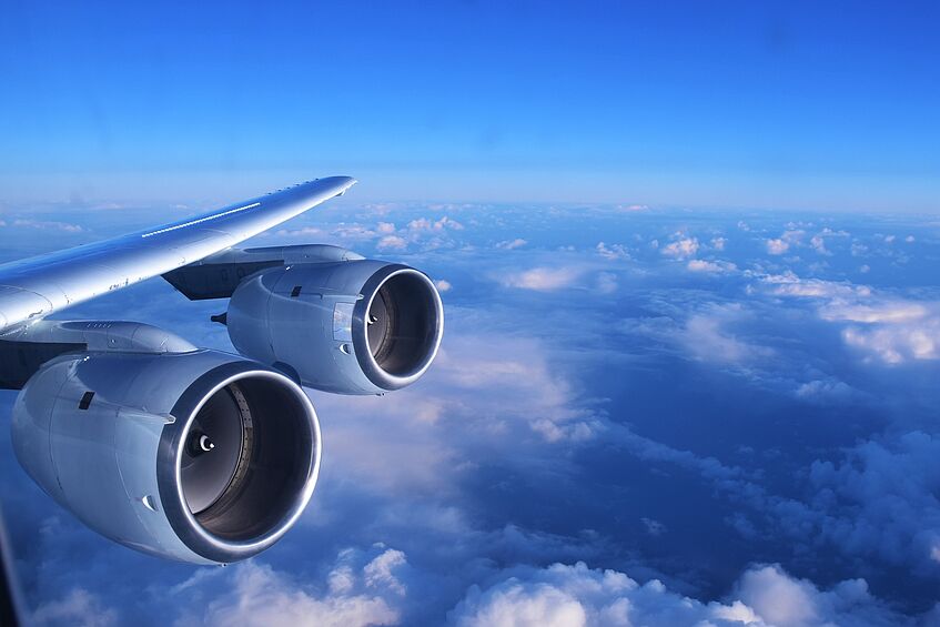
{"label": "broad layer of scattered clouds below the horizon, around the engines", "polygon": [[[8,512],[20,527],[31,600],[50,605],[79,586],[91,608],[111,607],[118,623],[141,626],[176,613],[185,625],[222,621],[239,609],[301,624],[302,611],[310,620],[335,613],[353,625],[441,624],[447,610],[468,624],[559,615],[613,625],[624,616],[637,625],[904,624],[879,614],[868,584],[855,579],[865,576],[896,607],[926,609],[940,568],[936,362],[914,358],[894,338],[904,370],[873,370],[883,363],[873,345],[852,345],[842,331],[868,337],[924,328],[937,311],[924,300],[936,297],[923,280],[929,267],[908,267],[911,284],[924,285],[918,292],[855,284],[843,272],[862,260],[852,262],[830,235],[821,236],[846,259],[816,266],[816,279],[764,257],[779,272],[766,274],[752,251],[738,254],[731,245],[721,253],[727,262],[693,255],[663,263],[645,243],[677,224],[683,234],[664,246],[698,237],[696,255],[707,242],[714,252],[721,231],[687,214],[623,230],[600,224],[603,246],[595,235],[572,240],[564,254],[523,249],[508,255],[519,262],[513,266],[486,242],[526,233],[533,251],[557,250],[540,230],[524,230],[530,216],[454,214],[461,231],[449,223],[435,230],[442,214],[426,206],[395,211],[377,223],[360,215],[364,225],[344,229],[370,244],[398,237],[410,252],[466,236],[474,250],[424,255],[418,264],[458,277],[462,295],[448,301],[441,356],[418,384],[385,397],[311,393],[324,429],[323,474],[284,540],[241,566],[166,565],[97,538],[47,500],[30,506],[34,512],[21,508],[39,502],[39,491],[20,481],[10,457],[2,468]],[[421,220],[415,230],[405,226]],[[754,216],[754,237],[781,232],[768,221]],[[492,230],[475,232],[484,224]],[[734,230],[734,220],[722,226]],[[639,261],[629,272],[605,262],[626,259],[610,241],[635,249]],[[540,261],[526,263],[530,257]],[[559,269],[559,260],[570,269]],[[741,270],[716,271],[734,269],[732,261]],[[882,265],[876,267],[882,285]],[[511,275],[504,284],[519,290],[494,290],[501,269]],[[166,311],[159,303],[172,291],[155,285],[78,315],[134,311],[201,345],[231,350],[224,328],[204,322],[218,302]],[[438,282],[442,292],[445,285]],[[610,293],[617,296],[604,297]],[[616,333],[621,325],[635,333]],[[9,406],[14,395],[4,394]],[[902,442],[908,433],[919,435]],[[684,519],[693,510],[689,527]],[[751,559],[784,566],[749,567]],[[616,567],[614,583],[586,566],[587,575],[568,578],[540,574],[555,562],[570,572],[578,560]],[[617,587],[618,572],[633,587]],[[847,582],[833,585],[840,579]]]}

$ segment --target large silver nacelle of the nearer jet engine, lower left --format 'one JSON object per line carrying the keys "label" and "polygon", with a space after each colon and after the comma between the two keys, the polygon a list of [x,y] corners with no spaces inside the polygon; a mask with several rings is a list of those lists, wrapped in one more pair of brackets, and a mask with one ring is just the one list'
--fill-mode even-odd
{"label": "large silver nacelle of the nearer jet engine, lower left", "polygon": [[196,564],[274,544],[310,500],[321,454],[296,383],[214,351],[60,355],[17,397],[12,441],[89,527]]}

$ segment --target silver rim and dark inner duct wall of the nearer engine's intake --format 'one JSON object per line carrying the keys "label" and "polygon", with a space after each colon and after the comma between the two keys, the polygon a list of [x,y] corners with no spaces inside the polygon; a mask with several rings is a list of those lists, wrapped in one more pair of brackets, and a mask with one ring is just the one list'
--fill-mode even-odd
{"label": "silver rim and dark inner duct wall of the nearer engine's intake", "polygon": [[[254,461],[240,466],[239,476],[231,479],[244,482],[242,492],[229,486],[215,503],[194,513],[182,473],[189,435],[203,406],[233,384],[262,406],[272,398],[283,403],[271,403],[282,411],[252,418]],[[176,421],[161,434],[156,473],[161,504],[180,540],[193,553],[222,564],[245,559],[276,543],[303,513],[320,473],[320,423],[303,390],[259,363],[232,362],[193,382],[171,414]],[[262,489],[270,483],[277,483],[281,491]]]}

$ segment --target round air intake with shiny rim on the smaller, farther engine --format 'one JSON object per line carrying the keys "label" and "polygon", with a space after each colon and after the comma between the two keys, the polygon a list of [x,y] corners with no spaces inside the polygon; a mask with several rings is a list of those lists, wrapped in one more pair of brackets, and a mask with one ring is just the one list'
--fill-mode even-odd
{"label": "round air intake with shiny rim on the smaller, farther engine", "polygon": [[[437,287],[423,272],[388,264],[370,276],[362,294],[365,297],[356,302],[352,321],[360,367],[382,390],[411,385],[431,366],[444,336],[444,304]],[[383,322],[387,326],[380,333],[370,330],[373,305],[388,314],[388,322]]]}

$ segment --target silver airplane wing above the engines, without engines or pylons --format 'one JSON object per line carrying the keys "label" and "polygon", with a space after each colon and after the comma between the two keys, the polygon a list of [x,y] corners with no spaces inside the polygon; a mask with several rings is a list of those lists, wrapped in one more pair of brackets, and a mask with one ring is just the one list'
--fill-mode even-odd
{"label": "silver airplane wing above the engines, without engines or pylons", "polygon": [[0,265],[0,331],[223,251],[342,195],[350,176],[317,179],[94,244]]}

